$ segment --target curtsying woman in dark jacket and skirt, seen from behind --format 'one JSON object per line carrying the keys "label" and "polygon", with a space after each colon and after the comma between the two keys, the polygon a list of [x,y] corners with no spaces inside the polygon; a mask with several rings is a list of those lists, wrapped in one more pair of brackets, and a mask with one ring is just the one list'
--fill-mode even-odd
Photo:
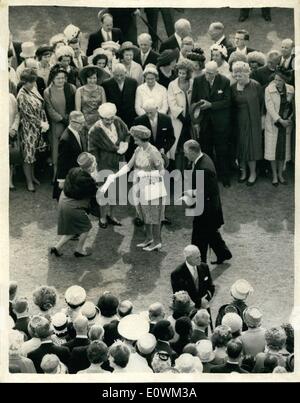
{"label": "curtsying woman in dark jacket and skirt, seen from behind", "polygon": [[96,182],[91,176],[96,170],[96,159],[93,155],[83,152],[77,159],[79,168],[72,168],[65,180],[64,189],[58,202],[57,233],[61,239],[50,249],[50,253],[57,257],[62,256],[60,249],[79,235],[75,257],[90,255],[85,249],[85,241],[92,228],[88,217],[91,198],[96,195]]}

